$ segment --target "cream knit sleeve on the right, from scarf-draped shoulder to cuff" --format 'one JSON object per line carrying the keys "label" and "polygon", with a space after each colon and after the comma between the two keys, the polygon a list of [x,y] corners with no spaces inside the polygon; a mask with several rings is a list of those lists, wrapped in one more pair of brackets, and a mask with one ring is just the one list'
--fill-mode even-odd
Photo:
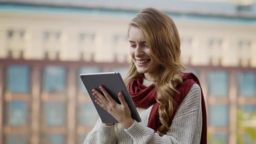
{"label": "cream knit sleeve on the right, from scarf-draped shoulder to cuff", "polygon": [[199,85],[192,85],[170,128],[171,132],[159,136],[153,129],[135,121],[125,132],[131,136],[133,144],[200,144],[202,107]]}

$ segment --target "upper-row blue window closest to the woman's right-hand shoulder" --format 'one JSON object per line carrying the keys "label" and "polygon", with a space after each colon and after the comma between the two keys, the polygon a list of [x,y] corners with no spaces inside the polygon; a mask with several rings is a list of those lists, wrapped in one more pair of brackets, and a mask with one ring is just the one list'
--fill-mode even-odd
{"label": "upper-row blue window closest to the woman's right-hand shoulder", "polygon": [[209,93],[216,97],[227,97],[229,91],[228,74],[223,71],[213,71],[208,75]]}

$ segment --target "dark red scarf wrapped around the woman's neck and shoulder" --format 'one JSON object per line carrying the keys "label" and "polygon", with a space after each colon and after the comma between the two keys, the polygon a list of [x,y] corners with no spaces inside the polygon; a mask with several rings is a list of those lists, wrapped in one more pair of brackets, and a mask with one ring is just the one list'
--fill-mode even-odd
{"label": "dark red scarf wrapped around the woman's neck and shoulder", "polygon": [[[202,125],[202,133],[201,133],[201,141],[200,144],[207,144],[207,117],[206,117],[206,108],[205,108],[205,100],[203,97],[203,91],[200,85],[198,78],[193,73],[184,73],[182,76],[183,83],[177,86],[176,90],[179,91],[174,97],[173,100],[175,103],[173,104],[173,115],[170,117],[170,123],[175,116],[177,108],[187,95],[189,89],[194,83],[197,83],[201,89],[201,103],[202,103],[202,118],[203,118],[203,125]],[[130,85],[128,85],[128,91],[133,99],[133,102],[136,107],[147,108],[151,104],[154,104],[150,115],[149,115],[149,122],[148,127],[157,131],[158,126],[160,126],[159,122],[159,115],[158,115],[158,107],[159,103],[156,102],[155,95],[156,95],[156,88],[154,84],[149,85],[148,87],[142,85],[143,77],[138,77],[136,80],[132,81]]]}

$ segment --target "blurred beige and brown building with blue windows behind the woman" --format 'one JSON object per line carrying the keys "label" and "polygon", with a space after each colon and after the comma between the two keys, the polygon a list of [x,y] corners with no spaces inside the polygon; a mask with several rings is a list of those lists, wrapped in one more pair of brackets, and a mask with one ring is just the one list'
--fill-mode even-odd
{"label": "blurred beige and brown building with blue windows behind the woman", "polygon": [[235,144],[237,109],[256,111],[256,5],[218,2],[1,0],[0,144],[83,143],[98,115],[79,74],[125,76],[128,23],[146,6],[176,22],[209,133]]}

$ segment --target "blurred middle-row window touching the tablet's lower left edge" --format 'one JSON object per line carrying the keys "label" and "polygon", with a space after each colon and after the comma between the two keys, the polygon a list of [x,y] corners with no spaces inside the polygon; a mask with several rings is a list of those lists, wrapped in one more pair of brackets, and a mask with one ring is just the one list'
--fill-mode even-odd
{"label": "blurred middle-row window touching the tablet's lower left edge", "polygon": [[84,102],[79,105],[79,124],[80,125],[88,125],[93,126],[95,125],[96,121],[98,120],[99,115],[94,107],[93,103]]}

